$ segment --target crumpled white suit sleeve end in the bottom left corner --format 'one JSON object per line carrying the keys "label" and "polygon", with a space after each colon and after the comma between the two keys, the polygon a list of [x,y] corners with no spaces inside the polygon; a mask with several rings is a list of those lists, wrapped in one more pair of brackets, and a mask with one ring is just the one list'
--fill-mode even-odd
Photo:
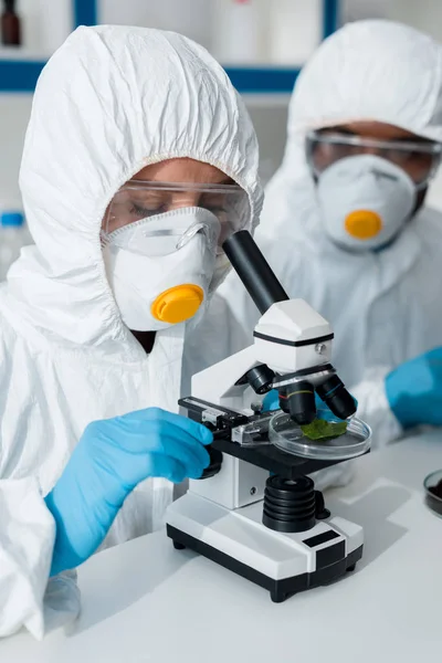
{"label": "crumpled white suit sleeve end in the bottom left corner", "polygon": [[73,573],[49,581],[55,523],[33,478],[0,480],[0,636],[39,640],[78,613]]}

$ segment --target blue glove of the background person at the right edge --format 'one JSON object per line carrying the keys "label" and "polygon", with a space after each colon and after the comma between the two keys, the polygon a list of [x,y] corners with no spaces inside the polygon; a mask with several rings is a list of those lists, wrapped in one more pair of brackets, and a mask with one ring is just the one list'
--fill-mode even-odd
{"label": "blue glove of the background person at the right edge", "polygon": [[404,428],[442,425],[442,348],[406,361],[386,379],[390,408]]}

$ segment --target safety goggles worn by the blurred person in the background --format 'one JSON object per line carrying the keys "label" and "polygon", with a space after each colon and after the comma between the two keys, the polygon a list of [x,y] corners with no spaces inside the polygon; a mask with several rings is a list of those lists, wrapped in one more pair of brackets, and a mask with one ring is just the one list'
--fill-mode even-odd
{"label": "safety goggles worn by the blurred person in the background", "polygon": [[431,141],[377,140],[326,130],[309,131],[306,137],[307,161],[317,177],[339,159],[376,155],[402,168],[418,188],[423,188],[434,176],[441,154],[442,145]]}

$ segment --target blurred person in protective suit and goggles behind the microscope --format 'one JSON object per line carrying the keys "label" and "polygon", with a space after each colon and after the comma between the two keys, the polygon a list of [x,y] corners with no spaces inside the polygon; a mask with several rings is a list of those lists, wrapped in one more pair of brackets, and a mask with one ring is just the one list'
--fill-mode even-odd
{"label": "blurred person in protective suit and goggles behind the microscope", "polygon": [[[442,46],[351,23],[302,71],[266,189],[261,248],[288,294],[332,323],[334,365],[375,446],[442,424],[442,214],[425,206],[441,141]],[[221,290],[244,346],[259,314],[234,275]]]}

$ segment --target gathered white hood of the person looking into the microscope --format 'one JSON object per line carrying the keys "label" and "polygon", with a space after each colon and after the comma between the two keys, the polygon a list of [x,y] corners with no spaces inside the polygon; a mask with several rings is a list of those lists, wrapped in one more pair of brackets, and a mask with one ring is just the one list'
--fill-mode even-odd
{"label": "gathered white hood of the person looking into the microscope", "polygon": [[123,343],[130,352],[105,275],[101,224],[122,185],[177,157],[232,177],[256,224],[254,130],[209,53],[171,32],[76,30],[43,70],[25,137],[20,187],[35,246],[9,273],[23,317],[62,344],[108,355]]}

